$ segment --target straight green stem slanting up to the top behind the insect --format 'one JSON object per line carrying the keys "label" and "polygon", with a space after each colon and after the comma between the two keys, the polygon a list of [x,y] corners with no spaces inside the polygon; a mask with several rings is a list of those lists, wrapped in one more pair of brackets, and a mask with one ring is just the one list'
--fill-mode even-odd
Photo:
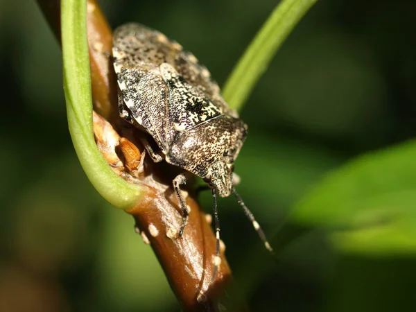
{"label": "straight green stem slanting up to the top behind the insect", "polygon": [[229,75],[223,96],[238,110],[297,22],[317,0],[283,0],[276,6]]}

